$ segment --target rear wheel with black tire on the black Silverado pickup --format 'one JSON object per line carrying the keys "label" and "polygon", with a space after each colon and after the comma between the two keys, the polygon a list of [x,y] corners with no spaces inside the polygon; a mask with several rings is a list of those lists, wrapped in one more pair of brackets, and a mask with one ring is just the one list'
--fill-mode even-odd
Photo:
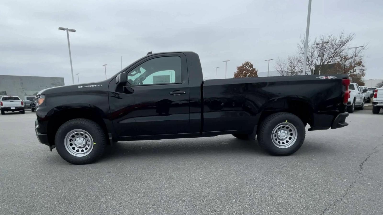
{"label": "rear wheel with black tire on the black Silverado pickup", "polygon": [[[279,132],[285,131],[287,138],[286,133],[282,132],[280,139],[278,130]],[[306,129],[299,117],[291,113],[279,112],[271,114],[261,122],[257,136],[259,145],[270,155],[286,156],[301,148],[306,136]],[[282,140],[283,138],[285,139]]]}

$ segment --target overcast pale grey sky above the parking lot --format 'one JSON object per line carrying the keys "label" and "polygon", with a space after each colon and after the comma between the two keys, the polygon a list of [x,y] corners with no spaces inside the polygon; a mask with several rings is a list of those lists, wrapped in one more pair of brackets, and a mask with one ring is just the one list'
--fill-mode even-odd
{"label": "overcast pale grey sky above the parking lot", "polygon": [[[103,80],[147,52],[190,50],[204,76],[228,78],[249,60],[259,72],[265,59],[296,53],[306,30],[308,0],[1,1],[0,75],[64,77],[71,84],[65,31],[80,83]],[[310,38],[355,33],[352,46],[369,43],[365,79],[383,78],[383,2],[313,0]],[[274,70],[274,61],[270,62]],[[75,75],[75,83],[77,76]]]}

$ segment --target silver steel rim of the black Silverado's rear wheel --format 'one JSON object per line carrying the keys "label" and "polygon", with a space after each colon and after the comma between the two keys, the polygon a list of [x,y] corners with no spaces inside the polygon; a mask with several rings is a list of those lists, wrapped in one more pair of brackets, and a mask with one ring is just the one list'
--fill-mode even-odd
{"label": "silver steel rim of the black Silverado's rear wheel", "polygon": [[276,147],[288,148],[295,143],[297,135],[298,131],[293,124],[282,122],[274,127],[271,138]]}

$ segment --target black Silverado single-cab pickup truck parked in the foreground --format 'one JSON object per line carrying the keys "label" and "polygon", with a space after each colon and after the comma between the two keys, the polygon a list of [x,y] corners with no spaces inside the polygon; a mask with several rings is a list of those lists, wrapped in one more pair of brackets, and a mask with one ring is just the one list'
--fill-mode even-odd
{"label": "black Silverado single-cab pickup truck parked in the foreground", "polygon": [[307,124],[348,125],[349,83],[347,75],[203,81],[196,53],[148,53],[107,80],[40,91],[36,135],[74,164],[92,163],[115,141],[222,134],[290,155]]}

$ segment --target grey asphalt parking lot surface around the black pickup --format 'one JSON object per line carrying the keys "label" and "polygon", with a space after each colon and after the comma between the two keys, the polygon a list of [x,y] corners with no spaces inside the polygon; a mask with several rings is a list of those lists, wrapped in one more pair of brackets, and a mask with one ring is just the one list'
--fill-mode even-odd
{"label": "grey asphalt parking lot surface around the black pickup", "polygon": [[291,156],[221,135],[119,142],[90,165],[38,143],[35,118],[0,116],[1,214],[383,214],[383,111]]}

